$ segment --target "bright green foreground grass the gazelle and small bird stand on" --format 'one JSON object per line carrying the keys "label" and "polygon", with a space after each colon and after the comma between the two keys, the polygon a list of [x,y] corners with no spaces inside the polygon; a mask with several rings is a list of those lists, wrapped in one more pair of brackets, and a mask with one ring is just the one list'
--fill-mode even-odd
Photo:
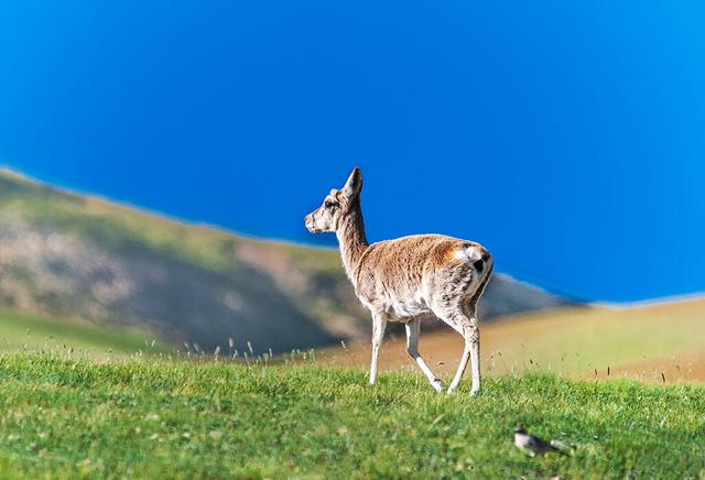
{"label": "bright green foreground grass the gazelle and small bird stand on", "polygon": [[[705,474],[705,390],[545,374],[437,395],[359,370],[0,356],[6,477],[449,478]],[[522,423],[576,444],[529,458]]]}

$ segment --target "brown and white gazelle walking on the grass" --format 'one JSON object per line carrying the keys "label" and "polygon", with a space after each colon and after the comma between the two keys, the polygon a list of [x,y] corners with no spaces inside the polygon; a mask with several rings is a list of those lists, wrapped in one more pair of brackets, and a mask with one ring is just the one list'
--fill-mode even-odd
{"label": "brown and white gazelle walking on the grass", "polygon": [[479,243],[440,234],[403,237],[369,244],[360,207],[362,172],[355,167],[340,190],[306,216],[313,233],[335,232],[345,272],[355,294],[372,314],[370,383],[377,380],[379,348],[387,321],[406,328],[406,351],[443,391],[443,383],[419,353],[420,317],[435,315],[465,339],[458,370],[448,386],[454,392],[471,360],[473,390],[480,390],[480,330],[477,303],[492,274],[492,257]]}

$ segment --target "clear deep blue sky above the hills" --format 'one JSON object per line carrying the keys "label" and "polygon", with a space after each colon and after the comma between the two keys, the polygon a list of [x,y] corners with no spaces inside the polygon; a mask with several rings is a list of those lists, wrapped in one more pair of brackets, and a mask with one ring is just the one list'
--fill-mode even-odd
{"label": "clear deep blue sky above the hills", "polygon": [[251,234],[366,176],[370,240],[445,232],[586,299],[705,291],[705,3],[0,6],[0,163]]}

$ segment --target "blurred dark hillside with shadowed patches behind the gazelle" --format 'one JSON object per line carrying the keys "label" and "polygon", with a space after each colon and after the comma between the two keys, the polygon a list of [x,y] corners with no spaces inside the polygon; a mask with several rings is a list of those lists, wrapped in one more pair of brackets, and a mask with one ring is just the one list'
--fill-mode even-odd
{"label": "blurred dark hillside with shadowed patches behind the gazelle", "polygon": [[[497,275],[485,317],[562,298]],[[186,225],[0,172],[0,307],[150,329],[213,351],[362,338],[334,250]],[[189,346],[189,348],[195,348]]]}

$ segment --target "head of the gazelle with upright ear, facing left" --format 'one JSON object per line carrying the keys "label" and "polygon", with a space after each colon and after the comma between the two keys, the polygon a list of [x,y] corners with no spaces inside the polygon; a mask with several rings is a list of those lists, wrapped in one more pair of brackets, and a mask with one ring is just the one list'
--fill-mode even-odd
{"label": "head of the gazelle with upright ear, facing left", "polygon": [[306,228],[312,233],[336,231],[340,220],[359,207],[362,189],[362,171],[352,168],[352,173],[339,190],[332,189],[318,209],[306,215]]}

